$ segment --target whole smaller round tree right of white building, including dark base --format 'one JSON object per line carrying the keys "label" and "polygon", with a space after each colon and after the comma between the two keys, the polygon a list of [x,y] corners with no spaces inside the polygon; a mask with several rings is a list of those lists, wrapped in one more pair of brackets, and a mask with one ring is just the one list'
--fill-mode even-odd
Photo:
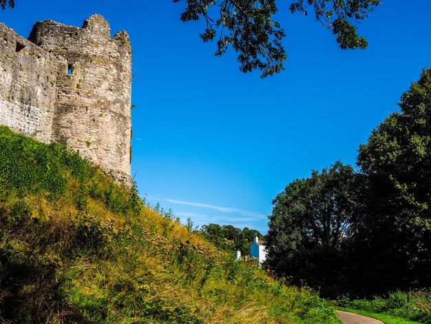
{"label": "whole smaller round tree right of white building, including dark base", "polygon": [[351,235],[354,181],[353,168],[337,162],[289,183],[277,195],[266,235],[267,263],[277,274],[323,286],[326,295],[343,281],[342,247]]}

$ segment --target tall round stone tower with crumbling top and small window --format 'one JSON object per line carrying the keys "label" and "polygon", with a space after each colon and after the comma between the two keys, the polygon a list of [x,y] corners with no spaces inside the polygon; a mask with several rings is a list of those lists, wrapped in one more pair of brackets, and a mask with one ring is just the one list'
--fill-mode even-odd
{"label": "tall round stone tower with crumbling top and small window", "polygon": [[130,181],[132,50],[94,14],[82,28],[39,21],[29,41],[65,61],[56,77],[52,141],[65,143],[116,179]]}

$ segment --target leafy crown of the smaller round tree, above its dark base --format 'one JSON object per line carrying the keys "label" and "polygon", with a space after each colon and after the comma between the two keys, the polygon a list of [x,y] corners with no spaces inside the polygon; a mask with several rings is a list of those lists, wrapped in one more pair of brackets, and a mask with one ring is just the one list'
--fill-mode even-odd
{"label": "leafy crown of the smaller round tree, above its dark base", "polygon": [[322,172],[313,170],[310,178],[288,184],[273,201],[269,249],[277,255],[299,247],[338,247],[350,235],[353,176],[353,168],[338,161]]}

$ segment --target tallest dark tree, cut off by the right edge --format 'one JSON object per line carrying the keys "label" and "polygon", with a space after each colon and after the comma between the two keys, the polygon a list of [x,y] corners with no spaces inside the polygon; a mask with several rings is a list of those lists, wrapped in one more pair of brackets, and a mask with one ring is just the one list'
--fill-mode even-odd
{"label": "tallest dark tree, cut off by the right edge", "polygon": [[[431,69],[359,148],[356,249],[377,290],[431,284]],[[376,280],[377,279],[377,280]]]}

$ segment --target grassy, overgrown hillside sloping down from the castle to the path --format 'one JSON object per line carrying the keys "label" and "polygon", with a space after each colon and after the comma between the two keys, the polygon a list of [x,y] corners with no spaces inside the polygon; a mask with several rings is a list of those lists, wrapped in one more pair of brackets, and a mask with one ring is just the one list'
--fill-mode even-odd
{"label": "grassy, overgrown hillside sloping down from the castle to the path", "polygon": [[339,323],[61,145],[0,127],[0,323]]}

